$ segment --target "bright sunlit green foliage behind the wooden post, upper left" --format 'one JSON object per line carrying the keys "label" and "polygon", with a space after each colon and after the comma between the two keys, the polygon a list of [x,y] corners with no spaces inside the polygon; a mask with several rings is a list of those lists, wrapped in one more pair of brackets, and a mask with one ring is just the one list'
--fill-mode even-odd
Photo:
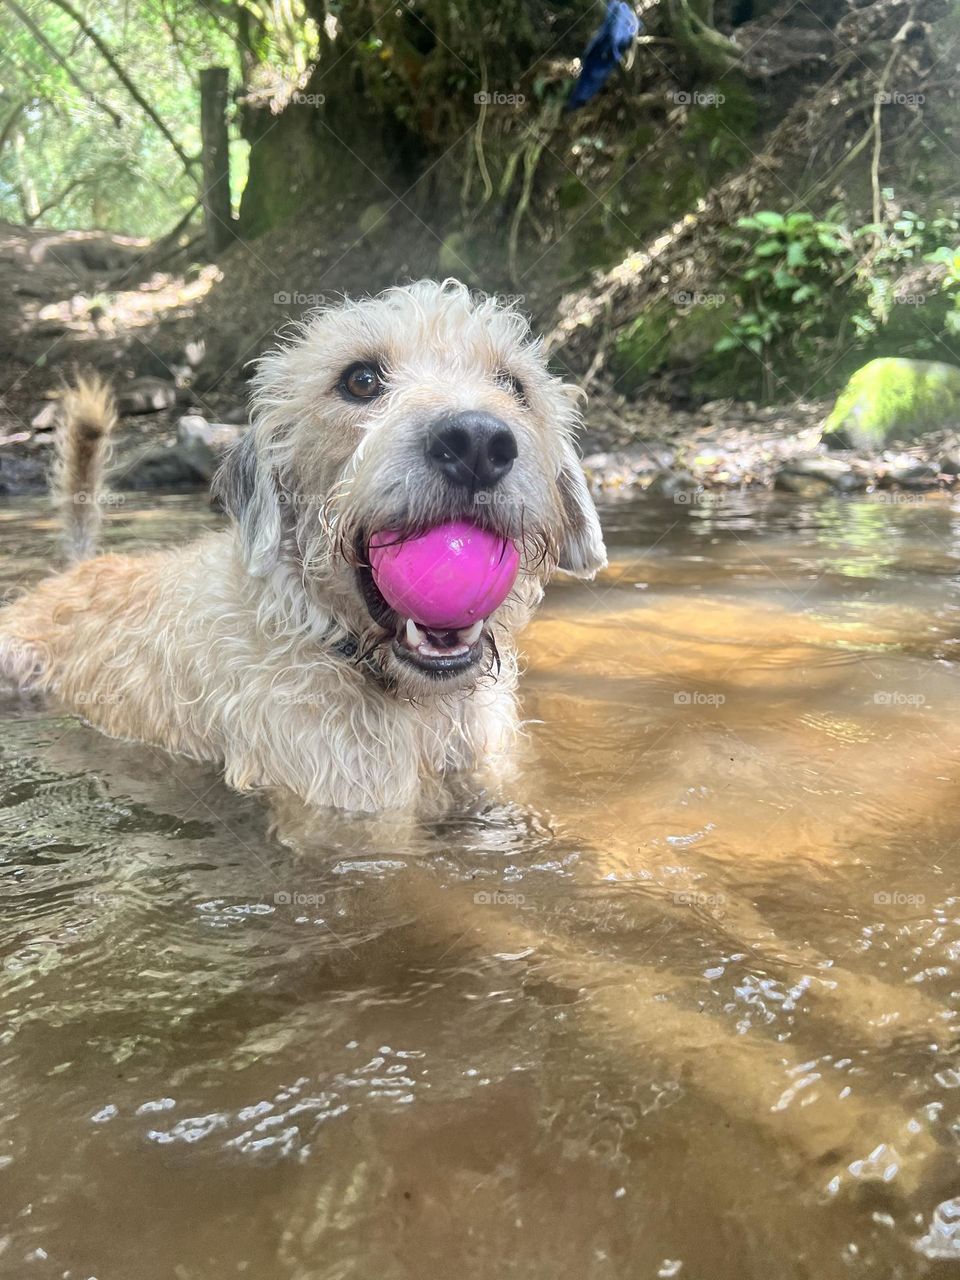
{"label": "bright sunlit green foliage behind the wooden post, upper left", "polygon": [[[302,10],[256,0],[72,0],[188,155],[200,150],[200,70],[227,65],[233,90],[296,83],[311,35]],[[104,55],[51,0],[18,0],[40,29],[0,8],[0,219],[157,236],[188,210],[187,174]],[[244,8],[250,5],[250,8]],[[241,22],[241,15],[243,22]],[[230,128],[239,142],[236,109]],[[234,196],[246,148],[233,147]],[[38,216],[37,216],[38,214]]]}

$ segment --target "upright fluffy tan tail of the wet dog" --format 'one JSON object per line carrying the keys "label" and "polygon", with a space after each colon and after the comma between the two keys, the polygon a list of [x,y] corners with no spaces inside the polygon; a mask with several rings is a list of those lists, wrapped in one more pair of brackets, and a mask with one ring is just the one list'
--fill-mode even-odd
{"label": "upright fluffy tan tail of the wet dog", "polygon": [[61,401],[52,474],[54,502],[70,563],[96,552],[114,426],[116,402],[109,385],[97,374],[78,378]]}

